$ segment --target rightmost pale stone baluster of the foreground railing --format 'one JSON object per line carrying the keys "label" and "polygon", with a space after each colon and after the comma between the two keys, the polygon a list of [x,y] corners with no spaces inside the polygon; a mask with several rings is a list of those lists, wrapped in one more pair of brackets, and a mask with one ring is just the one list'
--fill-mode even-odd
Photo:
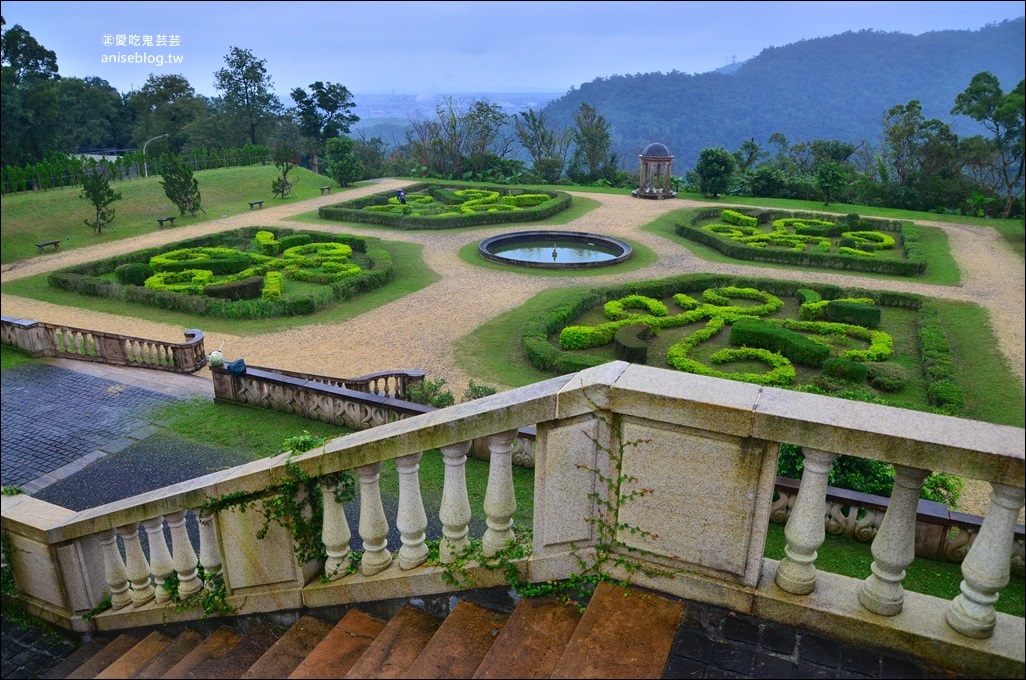
{"label": "rightmost pale stone baluster of the foreground railing", "polygon": [[980,532],[962,560],[961,594],[948,607],[948,626],[979,640],[994,634],[994,602],[1009,584],[1016,519],[1026,502],[1026,491],[1005,484],[991,484],[990,506]]}

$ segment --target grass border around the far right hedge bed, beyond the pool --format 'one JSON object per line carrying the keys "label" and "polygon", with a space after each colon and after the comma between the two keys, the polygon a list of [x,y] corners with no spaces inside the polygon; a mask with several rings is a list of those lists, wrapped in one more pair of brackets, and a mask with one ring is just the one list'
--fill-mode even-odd
{"label": "grass border around the far right hedge bed, beyond the pool", "polygon": [[[782,208],[793,206],[780,206]],[[936,227],[922,227],[917,226],[919,230],[919,241],[922,246],[923,255],[926,258],[926,272],[922,276],[893,276],[889,274],[873,274],[868,272],[845,272],[842,270],[834,270],[829,268],[821,267],[795,267],[793,265],[782,265],[776,263],[759,263],[749,259],[736,259],[724,255],[719,250],[715,248],[703,245],[701,243],[696,243],[689,239],[685,239],[676,232],[676,225],[678,222],[683,222],[690,218],[693,210],[692,209],[681,209],[668,212],[665,215],[660,215],[658,218],[641,227],[641,231],[649,232],[653,234],[658,234],[663,238],[669,239],[678,245],[681,245],[688,250],[690,250],[695,255],[706,259],[711,263],[720,263],[724,265],[744,265],[746,267],[761,267],[763,269],[775,269],[782,272],[786,271],[806,271],[806,272],[840,272],[844,274],[854,274],[867,279],[891,279],[897,281],[914,281],[915,283],[932,283],[935,285],[942,286],[956,286],[961,281],[961,273],[958,270],[958,265],[955,263],[954,257],[951,255],[951,250],[948,248],[948,235],[944,233],[943,230]],[[908,217],[901,217],[907,219]]]}

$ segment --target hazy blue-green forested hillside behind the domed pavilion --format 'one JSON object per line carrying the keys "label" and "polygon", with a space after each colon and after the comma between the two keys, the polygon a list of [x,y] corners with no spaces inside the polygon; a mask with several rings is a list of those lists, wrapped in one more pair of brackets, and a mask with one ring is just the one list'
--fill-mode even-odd
{"label": "hazy blue-green forested hillside behind the domed pavilion", "polygon": [[[728,39],[728,26],[723,35]],[[912,99],[925,118],[945,121],[958,134],[979,134],[975,121],[951,115],[955,96],[982,71],[1012,90],[1026,72],[1024,45],[1024,18],[920,36],[850,32],[766,48],[728,75],[596,78],[543,111],[552,124],[568,126],[582,104],[593,106],[608,122],[627,169],[637,167],[638,153],[652,142],[665,144],[684,167],[694,166],[704,148],[734,151],[749,138],[765,147],[774,132],[792,144],[876,145],[884,113]]]}

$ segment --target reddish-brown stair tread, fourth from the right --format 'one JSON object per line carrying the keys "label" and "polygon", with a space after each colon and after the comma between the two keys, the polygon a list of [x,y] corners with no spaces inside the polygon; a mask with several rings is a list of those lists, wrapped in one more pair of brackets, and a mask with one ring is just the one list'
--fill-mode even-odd
{"label": "reddish-brown stair tread, fourth from the right", "polygon": [[403,605],[374,638],[347,678],[399,678],[420,655],[441,622],[424,609]]}

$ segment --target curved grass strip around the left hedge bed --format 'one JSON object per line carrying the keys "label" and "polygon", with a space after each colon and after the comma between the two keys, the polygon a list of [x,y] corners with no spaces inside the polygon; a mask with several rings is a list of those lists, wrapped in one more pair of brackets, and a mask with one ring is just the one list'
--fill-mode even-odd
{"label": "curved grass strip around the left hedge bed", "polygon": [[123,303],[104,297],[89,297],[68,290],[60,290],[46,282],[47,274],[10,281],[3,284],[0,289],[7,294],[31,297],[54,305],[175,324],[183,328],[195,328],[198,325],[206,332],[216,331],[243,336],[259,335],[313,323],[342,323],[382,305],[399,299],[403,295],[420,290],[438,280],[438,275],[421,257],[423,246],[401,241],[383,241],[381,245],[392,254],[392,264],[395,269],[392,281],[381,288],[361,293],[316,314],[305,316],[247,320],[200,318],[191,314],[160,310],[146,305]]}

